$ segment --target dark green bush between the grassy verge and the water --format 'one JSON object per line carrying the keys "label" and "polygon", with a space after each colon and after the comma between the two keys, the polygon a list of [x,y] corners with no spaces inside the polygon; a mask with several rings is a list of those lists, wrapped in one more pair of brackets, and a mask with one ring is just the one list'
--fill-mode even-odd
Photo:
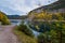
{"label": "dark green bush between the grassy verge and the water", "polygon": [[29,35],[29,37],[34,37],[32,31],[24,24],[20,25],[17,28],[20,31],[23,31],[25,34]]}

